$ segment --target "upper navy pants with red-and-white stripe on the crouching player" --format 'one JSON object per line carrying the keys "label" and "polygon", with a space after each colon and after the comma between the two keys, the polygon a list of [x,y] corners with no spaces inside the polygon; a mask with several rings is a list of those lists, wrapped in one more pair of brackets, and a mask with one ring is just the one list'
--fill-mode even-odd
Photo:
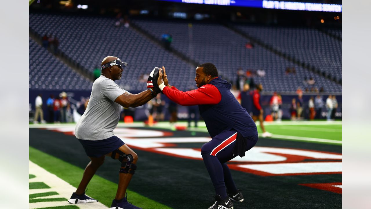
{"label": "upper navy pants with red-and-white stripe on the crouching player", "polygon": [[[236,130],[224,131],[220,134],[214,136],[211,141],[202,145],[201,154],[210,154],[214,155],[219,159],[221,163],[226,163],[227,161],[232,160],[238,155],[233,154],[233,149],[236,145],[237,139]],[[253,148],[258,140],[257,135],[244,137],[246,139],[246,144],[244,145],[244,151]]]}

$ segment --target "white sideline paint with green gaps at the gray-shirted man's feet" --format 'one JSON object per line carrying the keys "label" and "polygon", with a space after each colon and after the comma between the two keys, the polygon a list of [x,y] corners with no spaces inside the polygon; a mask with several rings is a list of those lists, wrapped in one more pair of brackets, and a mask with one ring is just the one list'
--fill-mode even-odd
{"label": "white sideline paint with green gaps at the gray-shirted man's feet", "polygon": [[[67,183],[66,181],[60,179],[58,176],[49,173],[44,168],[36,165],[35,163],[29,161],[29,173],[35,175],[35,178],[29,179],[29,182],[44,182],[50,187],[50,189],[30,189],[30,194],[43,193],[43,192],[57,192],[58,194],[53,196],[37,197],[35,199],[47,199],[47,198],[60,198],[64,197],[69,199],[72,192],[76,191],[76,188]],[[55,207],[55,206],[65,206],[71,205],[67,200],[59,202],[36,202],[29,203],[29,208],[46,208],[46,207]],[[105,205],[100,202],[94,203],[81,203],[76,204],[81,209],[107,209]]]}

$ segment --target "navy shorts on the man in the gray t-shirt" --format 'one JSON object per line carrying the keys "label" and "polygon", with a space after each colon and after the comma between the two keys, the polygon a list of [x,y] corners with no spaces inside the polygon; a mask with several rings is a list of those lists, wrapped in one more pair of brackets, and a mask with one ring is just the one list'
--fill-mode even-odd
{"label": "navy shorts on the man in the gray t-shirt", "polygon": [[117,136],[111,136],[108,139],[95,141],[79,139],[79,142],[82,144],[88,157],[101,157],[102,155],[106,155],[125,144]]}

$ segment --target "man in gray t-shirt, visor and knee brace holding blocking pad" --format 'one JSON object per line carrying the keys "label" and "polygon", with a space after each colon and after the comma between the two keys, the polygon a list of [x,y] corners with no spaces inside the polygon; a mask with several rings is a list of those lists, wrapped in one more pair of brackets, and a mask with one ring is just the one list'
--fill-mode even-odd
{"label": "man in gray t-shirt, visor and knee brace holding blocking pad", "polygon": [[[98,202],[86,196],[85,189],[107,155],[121,161],[118,189],[111,208],[138,209],[137,206],[127,202],[127,194],[125,196],[128,184],[137,168],[138,155],[121,139],[114,136],[113,131],[119,121],[120,105],[138,107],[157,94],[152,89],[139,94],[131,94],[121,89],[114,81],[121,78],[122,68],[127,65],[127,62],[111,56],[102,61],[102,74],[94,81],[88,106],[75,128],[76,138],[81,142],[91,161],[85,168],[79,187],[68,200],[70,203]],[[148,79],[151,80],[152,77]]]}

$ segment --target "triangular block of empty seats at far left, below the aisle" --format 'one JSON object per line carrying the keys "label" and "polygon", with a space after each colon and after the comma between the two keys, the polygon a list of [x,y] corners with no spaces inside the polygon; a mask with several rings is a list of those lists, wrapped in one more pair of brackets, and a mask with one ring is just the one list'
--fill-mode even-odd
{"label": "triangular block of empty seats at far left, below the aisle", "polygon": [[93,83],[29,38],[29,89],[90,90]]}

